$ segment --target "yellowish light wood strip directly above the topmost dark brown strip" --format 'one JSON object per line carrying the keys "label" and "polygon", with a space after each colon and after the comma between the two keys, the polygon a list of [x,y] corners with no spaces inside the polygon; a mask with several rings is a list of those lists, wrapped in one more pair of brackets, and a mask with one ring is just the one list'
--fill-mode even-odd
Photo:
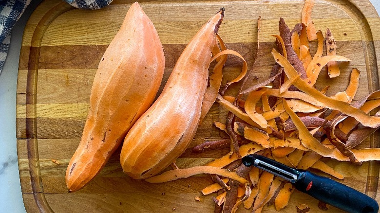
{"label": "yellowish light wood strip directly above the topmost dark brown strip", "polygon": [[[155,22],[154,26],[163,44],[187,44],[192,36],[207,20],[200,21],[167,21]],[[285,19],[286,23],[292,28],[300,21],[298,19]],[[361,40],[361,35],[355,22],[350,18],[313,20],[316,29],[326,31],[327,27],[334,33],[334,38],[338,41]],[[257,24],[252,20],[228,20],[224,19],[220,27],[219,34],[225,42],[257,42]],[[107,45],[116,35],[121,23],[78,23],[71,24],[53,22],[43,37],[42,44],[49,45]],[[65,30],[62,30],[65,29]],[[75,33],[74,33],[75,32]],[[248,33],[249,32],[249,33]],[[344,33],[346,35],[344,35]],[[278,34],[278,19],[263,19],[260,41],[273,41],[271,35]],[[27,37],[22,45],[28,45]]]}

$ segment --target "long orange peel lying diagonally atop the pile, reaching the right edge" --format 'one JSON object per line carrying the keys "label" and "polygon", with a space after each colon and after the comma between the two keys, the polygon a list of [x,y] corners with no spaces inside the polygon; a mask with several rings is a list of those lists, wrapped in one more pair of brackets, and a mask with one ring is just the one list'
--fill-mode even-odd
{"label": "long orange peel lying diagonally atop the pile, reaching the right edge", "polygon": [[[272,54],[273,54],[274,58],[276,59],[277,63],[279,63],[284,68],[285,74],[288,76],[288,78],[291,78],[293,76],[298,75],[297,71],[294,70],[292,65],[289,63],[289,61],[287,61],[286,58],[284,58],[284,56],[282,56],[280,53],[278,53],[275,49],[272,50]],[[330,57],[330,56],[323,56],[323,57]],[[333,57],[335,57],[335,56],[333,56]],[[279,60],[277,60],[277,59],[279,59]],[[369,126],[372,128],[377,128],[378,126],[380,126],[380,117],[369,116],[366,113],[364,113],[363,111],[361,111],[360,109],[355,108],[354,106],[351,106],[348,103],[344,103],[344,102],[337,101],[337,100],[334,100],[332,98],[329,98],[329,97],[323,95],[317,89],[312,88],[307,82],[305,82],[302,79],[298,79],[294,83],[294,85],[298,89],[303,91],[304,94],[306,94],[307,96],[310,96],[310,97],[312,97],[312,99],[316,100],[316,102],[311,102],[311,104],[318,103],[318,104],[316,104],[317,106],[323,106],[323,107],[327,107],[330,109],[339,110],[343,114],[354,117],[357,121],[359,121],[364,126]],[[294,98],[294,97],[297,97],[297,96],[292,96],[291,98]],[[297,97],[297,99],[299,99],[299,97]],[[304,100],[304,101],[306,101],[306,100]],[[292,110],[290,110],[290,111],[292,111]],[[287,113],[289,114],[289,112],[287,112]]]}

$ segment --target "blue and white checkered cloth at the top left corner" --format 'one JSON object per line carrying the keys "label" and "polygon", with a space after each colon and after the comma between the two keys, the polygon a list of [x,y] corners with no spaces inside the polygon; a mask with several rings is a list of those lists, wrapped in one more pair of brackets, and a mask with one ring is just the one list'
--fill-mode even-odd
{"label": "blue and white checkered cloth at the top left corner", "polygon": [[[31,0],[0,0],[0,73],[7,57],[11,30]],[[96,10],[109,5],[112,0],[65,0],[79,9]]]}

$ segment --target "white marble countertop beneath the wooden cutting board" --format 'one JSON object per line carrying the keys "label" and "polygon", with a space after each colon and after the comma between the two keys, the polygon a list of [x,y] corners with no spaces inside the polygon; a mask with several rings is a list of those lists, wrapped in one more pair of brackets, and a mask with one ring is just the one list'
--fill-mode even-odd
{"label": "white marble countertop beneath the wooden cutting board", "polygon": [[[25,23],[41,0],[32,0],[12,30],[11,44],[0,73],[0,213],[24,213],[16,149],[16,85]],[[380,11],[380,0],[370,0]]]}

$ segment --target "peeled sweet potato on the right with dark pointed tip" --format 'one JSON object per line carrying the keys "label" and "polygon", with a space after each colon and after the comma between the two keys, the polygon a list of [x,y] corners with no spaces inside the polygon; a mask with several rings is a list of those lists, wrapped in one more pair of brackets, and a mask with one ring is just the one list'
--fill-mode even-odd
{"label": "peeled sweet potato on the right with dark pointed tip", "polygon": [[160,96],[125,137],[120,163],[129,176],[152,177],[189,146],[200,121],[211,52],[223,16],[224,8],[194,35]]}

